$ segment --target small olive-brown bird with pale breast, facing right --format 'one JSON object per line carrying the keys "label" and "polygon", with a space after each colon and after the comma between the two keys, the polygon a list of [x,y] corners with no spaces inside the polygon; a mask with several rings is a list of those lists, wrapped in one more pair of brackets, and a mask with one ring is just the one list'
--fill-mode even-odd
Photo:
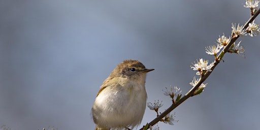
{"label": "small olive-brown bird with pale breast, facing right", "polygon": [[146,69],[138,60],[119,63],[103,82],[91,109],[95,130],[134,128],[146,107]]}

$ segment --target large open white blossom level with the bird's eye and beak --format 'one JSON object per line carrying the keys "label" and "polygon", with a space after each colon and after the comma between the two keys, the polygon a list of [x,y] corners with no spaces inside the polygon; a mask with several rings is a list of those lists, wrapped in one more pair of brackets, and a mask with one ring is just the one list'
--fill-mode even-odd
{"label": "large open white blossom level with the bird's eye and beak", "polygon": [[200,59],[200,61],[197,60],[197,63],[194,62],[195,64],[192,63],[193,67],[191,67],[191,69],[193,69],[193,71],[198,71],[196,73],[196,75],[200,75],[202,74],[203,71],[209,71],[211,72],[211,67],[214,66],[214,62],[210,63],[208,66],[209,61],[208,60],[203,60],[203,58]]}

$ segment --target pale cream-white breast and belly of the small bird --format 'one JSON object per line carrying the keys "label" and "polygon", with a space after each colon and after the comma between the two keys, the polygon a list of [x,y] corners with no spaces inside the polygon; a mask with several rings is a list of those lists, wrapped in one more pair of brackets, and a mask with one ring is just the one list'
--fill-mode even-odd
{"label": "pale cream-white breast and belly of the small bird", "polygon": [[96,97],[92,114],[98,124],[107,127],[138,125],[146,107],[145,78],[143,81],[117,80],[119,82],[109,85]]}

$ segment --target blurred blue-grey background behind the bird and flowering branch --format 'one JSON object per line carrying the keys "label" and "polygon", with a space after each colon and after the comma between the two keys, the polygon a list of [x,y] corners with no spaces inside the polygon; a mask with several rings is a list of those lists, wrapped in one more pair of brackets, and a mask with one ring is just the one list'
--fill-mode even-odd
{"label": "blurred blue-grey background behind the bird and flowering branch", "polygon": [[[93,129],[96,93],[124,59],[147,68],[148,102],[171,99],[170,85],[185,94],[210,61],[205,46],[231,23],[245,23],[245,1],[0,1],[0,125],[11,129]],[[260,23],[256,18],[256,23]],[[174,125],[160,129],[260,129],[260,36],[239,38],[245,57],[226,54],[204,92],[174,111]],[[156,117],[146,109],[141,125]],[[140,127],[139,127],[140,128]]]}

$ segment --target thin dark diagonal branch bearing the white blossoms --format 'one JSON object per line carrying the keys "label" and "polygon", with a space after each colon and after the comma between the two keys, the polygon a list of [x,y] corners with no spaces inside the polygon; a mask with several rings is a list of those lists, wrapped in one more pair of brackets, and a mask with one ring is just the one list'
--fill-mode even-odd
{"label": "thin dark diagonal branch bearing the white blossoms", "polygon": [[[258,14],[260,13],[260,10],[257,10],[255,12],[254,15],[252,15],[250,17],[250,19],[245,23],[243,29],[246,29],[249,25],[249,23],[251,23],[257,16]],[[223,49],[224,53],[228,52],[228,50],[230,49],[230,47],[232,46],[232,44],[239,38],[238,37],[235,37],[235,38],[232,38],[230,43],[227,44],[225,46],[225,48]],[[222,57],[221,56],[221,52],[220,54],[217,56],[217,59],[219,60],[215,60],[214,61],[214,66],[211,68],[211,70],[213,71],[215,69],[215,67],[217,66],[217,64],[219,63],[219,61],[221,60]],[[211,71],[211,72],[212,72]],[[154,124],[156,124],[158,121],[160,121],[161,119],[163,119],[167,114],[169,114],[172,110],[174,110],[176,107],[178,107],[181,103],[183,103],[184,101],[186,101],[190,96],[193,96],[193,93],[194,91],[196,91],[200,85],[209,77],[209,75],[211,74],[211,72],[207,71],[205,73],[204,76],[201,77],[201,80],[198,82],[198,84],[194,87],[192,87],[178,102],[172,104],[166,111],[164,111],[163,113],[161,113],[159,116],[157,116],[155,119],[153,119],[150,123],[148,123],[148,126],[153,126]],[[141,128],[140,130],[143,130],[143,128]],[[146,129],[145,129],[146,130]]]}

